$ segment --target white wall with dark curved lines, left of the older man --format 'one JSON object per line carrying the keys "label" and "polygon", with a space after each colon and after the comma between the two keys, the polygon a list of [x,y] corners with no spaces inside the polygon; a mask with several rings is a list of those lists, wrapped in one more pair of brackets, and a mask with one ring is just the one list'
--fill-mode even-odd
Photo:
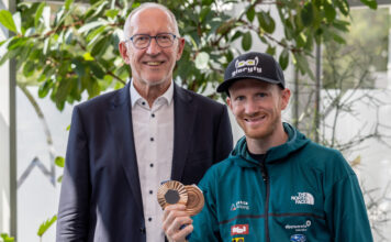
{"label": "white wall with dark curved lines, left of the older man", "polygon": [[[55,103],[49,99],[37,97],[37,87],[30,87],[29,90],[40,105],[49,130],[52,132],[53,144],[56,155],[65,156],[68,140],[67,127],[70,124],[72,108],[68,105],[60,112]],[[86,97],[85,99],[86,100]],[[16,138],[18,138],[18,178],[36,156],[47,168],[51,166],[48,145],[44,128],[38,120],[33,107],[24,96],[16,89]],[[56,178],[63,174],[60,168],[56,168]],[[47,176],[35,167],[22,186],[18,189],[18,238],[19,242],[38,241],[36,232],[44,221],[57,213],[60,184],[53,186]],[[42,242],[55,241],[54,224],[43,237]]]}

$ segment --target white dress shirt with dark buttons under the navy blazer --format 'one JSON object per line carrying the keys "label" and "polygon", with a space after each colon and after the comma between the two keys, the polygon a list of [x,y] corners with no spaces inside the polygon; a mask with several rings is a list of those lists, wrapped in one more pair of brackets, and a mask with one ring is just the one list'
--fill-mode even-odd
{"label": "white dress shirt with dark buttons under the navy blazer", "polygon": [[[131,84],[132,123],[147,242],[164,242],[163,210],[156,193],[171,177],[174,152],[174,85],[152,107]],[[131,229],[131,228],[130,228]]]}

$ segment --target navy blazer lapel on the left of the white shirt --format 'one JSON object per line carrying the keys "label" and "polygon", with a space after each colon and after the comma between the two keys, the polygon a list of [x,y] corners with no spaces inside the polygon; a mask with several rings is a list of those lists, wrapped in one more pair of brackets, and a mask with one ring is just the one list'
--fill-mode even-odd
{"label": "navy blazer lapel on the left of the white shirt", "polygon": [[135,202],[143,211],[136,150],[133,139],[130,82],[119,91],[111,103],[109,121],[115,138],[120,163],[125,170]]}

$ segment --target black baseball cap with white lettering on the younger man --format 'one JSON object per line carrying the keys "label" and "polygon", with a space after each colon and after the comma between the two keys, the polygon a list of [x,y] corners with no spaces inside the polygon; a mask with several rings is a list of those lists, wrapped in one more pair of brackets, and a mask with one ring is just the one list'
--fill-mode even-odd
{"label": "black baseball cap with white lettering on the younger man", "polygon": [[234,58],[225,69],[224,81],[217,92],[227,92],[230,86],[241,79],[257,79],[286,88],[286,80],[280,64],[268,54],[249,52]]}

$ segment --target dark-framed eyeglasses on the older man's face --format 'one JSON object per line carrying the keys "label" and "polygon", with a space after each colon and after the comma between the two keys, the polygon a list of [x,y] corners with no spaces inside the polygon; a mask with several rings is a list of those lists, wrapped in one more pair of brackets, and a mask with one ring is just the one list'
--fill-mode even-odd
{"label": "dark-framed eyeglasses on the older man's face", "polygon": [[177,35],[171,33],[161,33],[156,34],[155,36],[150,36],[148,34],[135,34],[130,40],[133,43],[133,46],[136,48],[146,48],[150,44],[150,40],[155,38],[156,43],[163,47],[171,47]]}

